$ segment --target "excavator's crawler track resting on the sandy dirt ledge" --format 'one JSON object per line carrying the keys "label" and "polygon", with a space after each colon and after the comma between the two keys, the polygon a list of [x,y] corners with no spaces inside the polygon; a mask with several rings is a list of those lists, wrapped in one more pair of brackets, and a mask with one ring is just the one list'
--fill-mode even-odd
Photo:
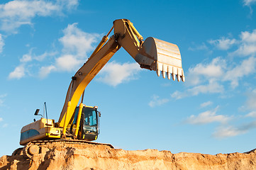
{"label": "excavator's crawler track resting on the sandy dirt ledge", "polygon": [[[40,153],[46,153],[47,151],[50,150],[48,145],[52,144],[57,144],[57,143],[62,143],[63,145],[65,144],[79,144],[79,145],[105,145],[111,148],[114,148],[111,144],[105,144],[105,143],[98,143],[98,142],[90,142],[87,140],[35,140],[32,142],[28,142],[23,147],[23,156],[32,159],[33,155],[35,154],[40,154]],[[53,148],[53,147],[52,147]]]}

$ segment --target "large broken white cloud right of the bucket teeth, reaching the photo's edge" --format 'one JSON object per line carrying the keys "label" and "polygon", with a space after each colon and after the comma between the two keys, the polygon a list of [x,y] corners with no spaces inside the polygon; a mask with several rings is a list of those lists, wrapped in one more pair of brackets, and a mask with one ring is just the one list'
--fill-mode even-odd
{"label": "large broken white cloud right of the bucket teeth, reaching the photo's edge", "polygon": [[235,89],[239,81],[256,71],[255,57],[249,57],[237,65],[231,63],[231,67],[227,67],[227,64],[229,63],[226,60],[216,57],[209,63],[199,63],[195,67],[190,67],[187,84],[192,87],[182,92],[175,91],[171,94],[172,98],[223,93],[224,82],[230,81],[230,86]]}

